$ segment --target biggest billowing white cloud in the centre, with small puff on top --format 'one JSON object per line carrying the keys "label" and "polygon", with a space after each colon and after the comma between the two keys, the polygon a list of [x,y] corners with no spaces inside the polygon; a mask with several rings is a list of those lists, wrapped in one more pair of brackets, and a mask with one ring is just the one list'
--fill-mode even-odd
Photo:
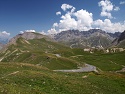
{"label": "biggest billowing white cloud in the centre, with small puff on top", "polygon": [[[63,4],[62,6],[66,6],[68,4]],[[67,8],[74,8],[71,5],[68,5]],[[62,10],[65,10],[62,9]],[[69,29],[78,29],[78,30],[88,30],[91,29],[91,25],[93,22],[93,14],[89,13],[86,10],[78,10],[78,11],[66,11],[65,15],[62,15],[59,23],[54,23],[53,27],[48,30],[48,33],[59,33],[64,30]]]}

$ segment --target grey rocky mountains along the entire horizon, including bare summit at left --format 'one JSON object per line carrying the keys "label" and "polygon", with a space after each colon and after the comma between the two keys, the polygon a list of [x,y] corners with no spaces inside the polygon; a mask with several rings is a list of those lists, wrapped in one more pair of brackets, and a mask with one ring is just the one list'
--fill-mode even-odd
{"label": "grey rocky mountains along the entire horizon, including bare summit at left", "polygon": [[[67,45],[70,48],[122,47],[124,45],[124,32],[108,33],[101,29],[90,29],[88,31],[67,30],[52,36],[42,35],[35,32],[24,32],[23,34],[18,34],[11,38],[7,44],[14,44],[19,37],[26,40],[41,39],[44,37],[49,41],[56,41]],[[4,45],[0,45],[0,48],[3,46]]]}

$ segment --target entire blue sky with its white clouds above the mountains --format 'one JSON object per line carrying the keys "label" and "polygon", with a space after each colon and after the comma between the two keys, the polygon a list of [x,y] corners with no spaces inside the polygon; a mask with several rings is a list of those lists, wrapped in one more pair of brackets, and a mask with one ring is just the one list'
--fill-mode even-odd
{"label": "entire blue sky with its white clouds above the mountains", "polygon": [[0,36],[91,28],[122,32],[124,9],[124,0],[0,0]]}

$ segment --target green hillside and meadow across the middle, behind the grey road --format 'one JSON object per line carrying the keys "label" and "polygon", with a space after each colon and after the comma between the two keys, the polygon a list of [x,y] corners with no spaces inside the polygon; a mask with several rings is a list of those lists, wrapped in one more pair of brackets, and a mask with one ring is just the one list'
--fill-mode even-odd
{"label": "green hillside and meadow across the middle, behind the grey road", "polygon": [[43,39],[25,40],[19,38],[0,53],[1,62],[23,62],[49,69],[73,69],[85,63],[103,71],[117,71],[125,66],[125,52],[86,53],[83,49],[70,49],[62,44]]}

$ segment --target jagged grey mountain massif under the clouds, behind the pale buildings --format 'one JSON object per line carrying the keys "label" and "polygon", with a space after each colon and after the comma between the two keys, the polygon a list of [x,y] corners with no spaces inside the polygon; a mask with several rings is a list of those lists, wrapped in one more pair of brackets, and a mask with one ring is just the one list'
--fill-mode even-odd
{"label": "jagged grey mountain massif under the clouds, behind the pale buildings", "polygon": [[117,33],[106,33],[100,29],[89,31],[68,30],[54,36],[55,40],[70,47],[99,47],[106,48],[120,35]]}

